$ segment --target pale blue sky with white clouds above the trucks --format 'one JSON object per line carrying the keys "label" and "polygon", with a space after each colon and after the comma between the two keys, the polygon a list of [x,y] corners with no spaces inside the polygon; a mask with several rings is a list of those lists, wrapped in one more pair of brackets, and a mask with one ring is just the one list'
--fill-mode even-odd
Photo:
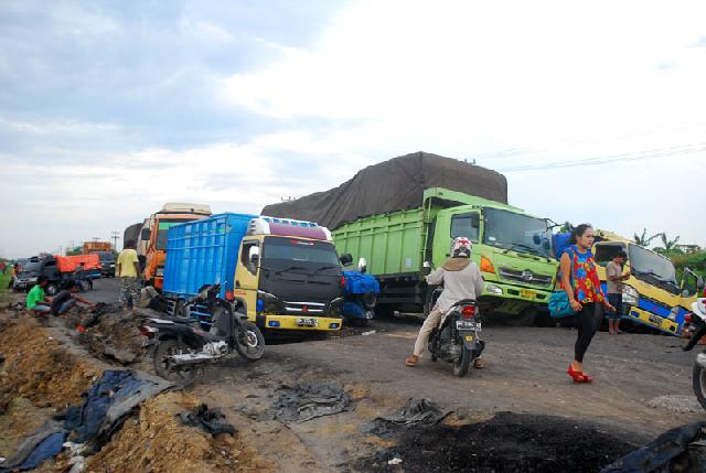
{"label": "pale blue sky with white clouds above the trucks", "polygon": [[416,151],[502,172],[535,215],[706,246],[704,18],[699,1],[4,0],[0,256],[122,235],[165,202],[258,213]]}

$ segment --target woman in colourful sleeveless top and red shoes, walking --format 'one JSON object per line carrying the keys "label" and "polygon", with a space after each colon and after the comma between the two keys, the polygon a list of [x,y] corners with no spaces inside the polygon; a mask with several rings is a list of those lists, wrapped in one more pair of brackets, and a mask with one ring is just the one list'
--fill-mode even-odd
{"label": "woman in colourful sleeveless top and red shoes, walking", "polygon": [[593,228],[581,224],[571,234],[571,244],[561,255],[561,289],[566,292],[571,309],[577,312],[578,336],[574,346],[574,361],[567,373],[574,383],[591,383],[593,377],[584,373],[584,355],[596,334],[601,318],[601,305],[608,311],[616,309],[608,302],[600,287],[593,261]]}

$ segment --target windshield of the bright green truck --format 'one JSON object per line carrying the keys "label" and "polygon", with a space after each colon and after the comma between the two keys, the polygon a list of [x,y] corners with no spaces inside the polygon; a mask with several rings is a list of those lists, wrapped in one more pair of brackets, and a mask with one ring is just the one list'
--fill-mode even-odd
{"label": "windshield of the bright green truck", "polygon": [[552,255],[552,234],[547,223],[541,218],[485,208],[484,223],[485,245],[546,258]]}

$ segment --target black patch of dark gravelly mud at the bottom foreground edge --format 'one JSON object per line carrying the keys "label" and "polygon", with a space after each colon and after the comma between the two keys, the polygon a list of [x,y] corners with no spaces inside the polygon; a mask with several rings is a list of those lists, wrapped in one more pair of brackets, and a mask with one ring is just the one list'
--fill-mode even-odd
{"label": "black patch of dark gravelly mud at the bottom foreground edge", "polygon": [[[635,449],[585,422],[500,412],[461,427],[402,431],[396,447],[352,465],[365,472],[597,472]],[[399,465],[388,464],[395,458]]]}

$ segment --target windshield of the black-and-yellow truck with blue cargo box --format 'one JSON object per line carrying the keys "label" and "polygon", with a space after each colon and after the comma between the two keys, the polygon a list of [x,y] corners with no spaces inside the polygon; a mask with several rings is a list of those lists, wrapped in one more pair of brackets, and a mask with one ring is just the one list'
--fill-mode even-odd
{"label": "windshield of the black-and-yellow truck with blue cargo box", "polygon": [[311,241],[299,238],[267,237],[263,245],[263,266],[284,270],[289,267],[302,269],[339,269],[335,247],[329,241]]}

